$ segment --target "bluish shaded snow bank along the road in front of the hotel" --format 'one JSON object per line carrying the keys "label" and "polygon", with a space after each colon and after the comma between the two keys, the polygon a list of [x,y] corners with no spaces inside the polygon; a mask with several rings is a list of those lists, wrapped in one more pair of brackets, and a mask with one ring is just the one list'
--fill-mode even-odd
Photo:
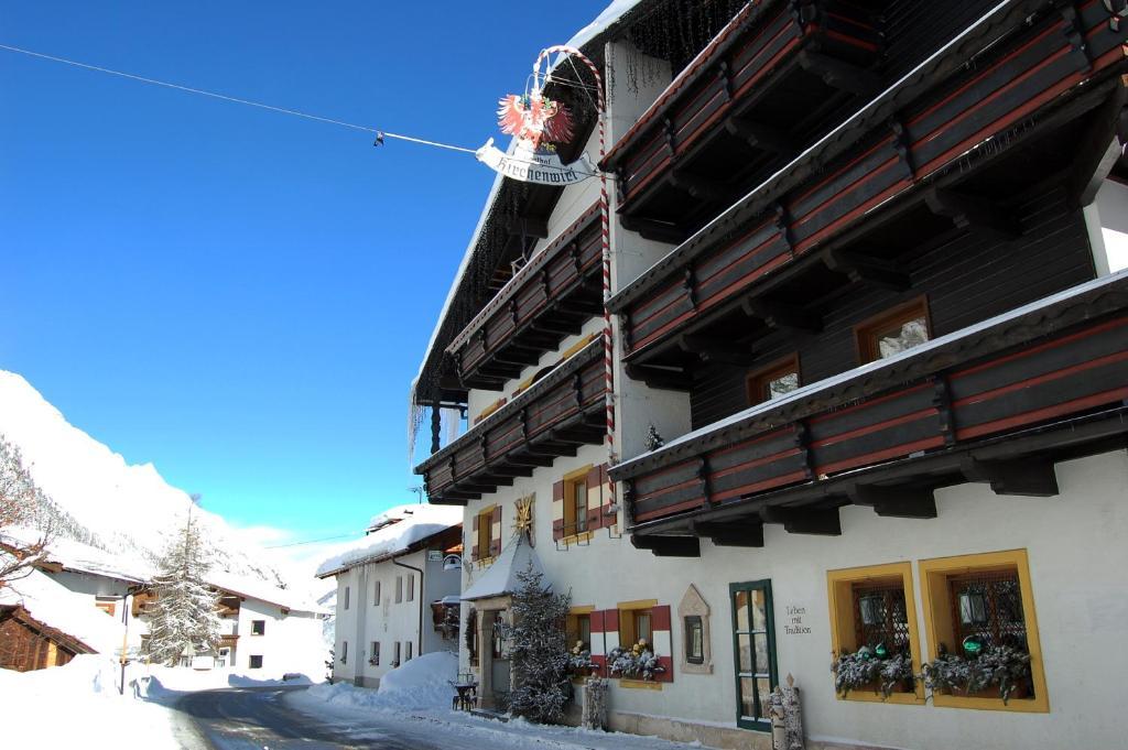
{"label": "bluish shaded snow bank along the road in front of the hotel", "polygon": [[[451,709],[451,682],[458,671],[452,653],[424,654],[393,670],[378,690],[349,683],[315,685],[285,696],[293,708],[341,727],[355,741],[381,736],[381,724],[396,718],[398,733],[449,750],[481,748],[590,748],[592,750],[685,750],[698,743],[668,742],[619,732],[544,726],[523,720],[508,723]],[[365,726],[365,722],[369,723]]]}

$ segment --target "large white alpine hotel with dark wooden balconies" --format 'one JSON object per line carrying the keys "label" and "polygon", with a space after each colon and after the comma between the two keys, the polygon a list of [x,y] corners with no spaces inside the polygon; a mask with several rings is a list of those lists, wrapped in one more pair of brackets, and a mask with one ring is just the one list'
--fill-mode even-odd
{"label": "large white alpine hotel with dark wooden balconies", "polygon": [[[666,668],[611,680],[613,729],[767,748],[792,674],[809,748],[1122,744],[1123,8],[642,0],[581,39],[614,453],[598,179],[496,180],[413,392],[430,502],[465,506],[482,705],[532,561],[605,676],[640,638]],[[599,161],[585,89],[550,94],[563,160]],[[969,643],[1029,654],[1006,702],[829,669]]]}

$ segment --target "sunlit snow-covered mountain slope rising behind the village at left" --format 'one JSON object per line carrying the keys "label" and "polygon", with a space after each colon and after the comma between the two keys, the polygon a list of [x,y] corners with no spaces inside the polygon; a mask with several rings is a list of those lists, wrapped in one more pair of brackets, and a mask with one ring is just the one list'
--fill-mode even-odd
{"label": "sunlit snow-covered mountain slope rising behind the village at left", "polygon": [[[0,433],[20,448],[35,483],[61,511],[62,533],[79,541],[152,563],[193,504],[155,466],[126,462],[67,422],[27,380],[3,370]],[[221,517],[202,509],[193,509],[193,514],[206,531],[217,567],[285,584]]]}

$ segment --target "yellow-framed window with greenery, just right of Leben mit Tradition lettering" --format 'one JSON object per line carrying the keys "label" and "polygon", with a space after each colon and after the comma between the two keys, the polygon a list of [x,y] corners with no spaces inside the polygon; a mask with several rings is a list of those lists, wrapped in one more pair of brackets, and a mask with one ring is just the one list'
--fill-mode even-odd
{"label": "yellow-framed window with greenery, just right of Leben mit Tradition lettering", "polygon": [[[880,644],[892,655],[907,654],[913,660],[913,673],[920,671],[920,636],[916,618],[916,595],[913,589],[913,566],[888,563],[827,571],[827,595],[830,610],[830,650],[838,656],[854,653],[862,646],[875,650]],[[874,686],[876,688],[876,686]],[[919,680],[909,689],[895,691],[889,698],[874,689],[851,690],[845,700],[885,700],[896,704],[924,703]]]}

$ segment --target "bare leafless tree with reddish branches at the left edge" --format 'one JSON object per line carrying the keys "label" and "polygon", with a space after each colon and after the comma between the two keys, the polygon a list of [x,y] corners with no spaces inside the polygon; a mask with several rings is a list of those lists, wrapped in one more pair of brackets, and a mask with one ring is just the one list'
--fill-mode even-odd
{"label": "bare leafless tree with reddish branches at the left edge", "polygon": [[28,575],[46,555],[54,531],[51,506],[19,447],[0,433],[0,585]]}

